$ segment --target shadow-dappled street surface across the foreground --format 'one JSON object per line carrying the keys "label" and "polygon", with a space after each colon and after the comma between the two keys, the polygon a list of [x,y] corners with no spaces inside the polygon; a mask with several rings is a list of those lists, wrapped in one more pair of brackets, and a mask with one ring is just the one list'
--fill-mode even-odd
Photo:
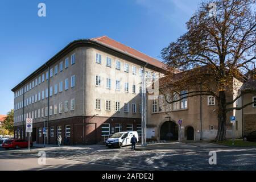
{"label": "shadow-dappled street surface across the foreground", "polygon": [[[189,147],[191,146],[191,147]],[[38,164],[38,152],[46,164]],[[215,151],[217,164],[209,164]],[[221,147],[186,144],[184,148],[131,151],[93,145],[27,150],[0,150],[0,170],[256,170],[255,147]]]}

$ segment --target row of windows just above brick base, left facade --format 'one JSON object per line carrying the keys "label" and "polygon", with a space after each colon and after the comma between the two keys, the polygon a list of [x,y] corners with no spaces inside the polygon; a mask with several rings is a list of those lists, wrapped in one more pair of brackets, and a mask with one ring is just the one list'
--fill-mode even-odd
{"label": "row of windows just above brick base, left facade", "polygon": [[[72,99],[70,102],[70,110],[75,110],[75,99]],[[49,106],[49,115],[57,114],[58,107],[57,105]],[[68,101],[64,102],[64,112],[67,113],[69,111]],[[63,102],[59,103],[59,114],[63,113]],[[24,118],[32,118],[37,119],[40,117],[48,116],[48,107],[43,107],[42,109],[38,109],[35,111],[31,111],[29,113],[24,114]],[[14,122],[21,122],[23,119],[23,114],[14,117]]]}

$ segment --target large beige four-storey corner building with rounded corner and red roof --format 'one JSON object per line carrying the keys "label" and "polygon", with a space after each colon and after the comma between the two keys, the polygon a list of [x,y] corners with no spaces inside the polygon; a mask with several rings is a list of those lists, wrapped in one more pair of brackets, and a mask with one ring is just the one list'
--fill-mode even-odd
{"label": "large beige four-storey corner building with rounded corner and red roof", "polygon": [[[141,131],[143,68],[157,77],[162,63],[106,36],[76,40],[22,82],[14,92],[15,138],[55,144],[90,144],[118,131]],[[43,128],[46,137],[43,137]]]}

